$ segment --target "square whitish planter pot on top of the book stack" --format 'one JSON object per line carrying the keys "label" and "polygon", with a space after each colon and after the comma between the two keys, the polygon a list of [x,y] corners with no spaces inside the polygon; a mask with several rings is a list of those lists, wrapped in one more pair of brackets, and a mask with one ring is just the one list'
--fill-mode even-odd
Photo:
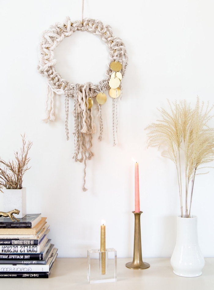
{"label": "square whitish planter pot on top of the book stack", "polygon": [[15,215],[16,218],[24,218],[27,214],[26,210],[26,187],[22,189],[3,189],[4,199],[4,212],[11,210],[20,210],[19,215]]}

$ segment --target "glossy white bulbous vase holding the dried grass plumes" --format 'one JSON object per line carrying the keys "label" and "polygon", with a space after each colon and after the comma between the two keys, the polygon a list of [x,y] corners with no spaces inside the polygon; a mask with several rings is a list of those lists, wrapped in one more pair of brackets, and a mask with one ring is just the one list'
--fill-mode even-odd
{"label": "glossy white bulbous vase holding the dried grass plumes", "polygon": [[197,277],[202,274],[205,260],[198,244],[197,216],[177,217],[177,240],[171,265],[179,276]]}

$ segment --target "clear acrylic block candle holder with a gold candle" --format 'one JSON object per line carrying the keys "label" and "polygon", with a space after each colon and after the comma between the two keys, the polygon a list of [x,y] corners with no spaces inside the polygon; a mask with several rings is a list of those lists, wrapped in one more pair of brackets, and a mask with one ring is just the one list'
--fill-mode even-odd
{"label": "clear acrylic block candle holder with a gold candle", "polygon": [[88,281],[90,284],[117,281],[117,251],[114,248],[88,250]]}

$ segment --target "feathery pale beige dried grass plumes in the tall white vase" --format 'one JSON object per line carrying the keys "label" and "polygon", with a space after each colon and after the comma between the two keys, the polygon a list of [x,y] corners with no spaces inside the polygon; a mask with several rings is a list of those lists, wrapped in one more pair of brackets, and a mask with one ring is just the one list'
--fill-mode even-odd
{"label": "feathery pale beige dried grass plumes in the tall white vase", "polygon": [[[181,204],[181,216],[183,217],[183,195],[182,195],[182,167],[185,170],[185,214],[190,217],[193,188],[195,176],[201,164],[214,160],[214,128],[209,128],[208,122],[213,117],[210,115],[213,106],[209,108],[209,103],[204,109],[204,103],[200,106],[197,98],[196,106],[191,109],[187,106],[186,100],[171,103],[171,112],[161,108],[162,120],[153,123],[146,129],[151,129],[147,134],[148,146],[164,145],[167,149],[162,152],[164,157],[170,158],[176,166],[179,194]],[[185,164],[181,164],[180,151],[184,152]],[[202,173],[205,174],[205,173]],[[191,184],[191,185],[190,185]],[[188,212],[188,193],[190,191],[190,206]]]}

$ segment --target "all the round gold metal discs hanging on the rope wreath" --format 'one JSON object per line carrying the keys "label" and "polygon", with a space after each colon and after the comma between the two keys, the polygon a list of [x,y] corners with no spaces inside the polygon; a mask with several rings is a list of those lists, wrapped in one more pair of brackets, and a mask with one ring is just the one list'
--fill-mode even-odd
{"label": "all the round gold metal discs hanging on the rope wreath", "polygon": [[[118,61],[113,61],[110,64],[110,68],[112,69],[113,73],[111,75],[111,78],[109,80],[109,95],[112,98],[118,98],[120,96],[120,82],[122,80],[122,74],[120,70],[122,69],[122,65]],[[97,102],[100,105],[105,104],[107,97],[104,93],[98,93],[97,95]],[[93,106],[93,100],[91,98],[88,98],[88,109],[90,109]]]}

